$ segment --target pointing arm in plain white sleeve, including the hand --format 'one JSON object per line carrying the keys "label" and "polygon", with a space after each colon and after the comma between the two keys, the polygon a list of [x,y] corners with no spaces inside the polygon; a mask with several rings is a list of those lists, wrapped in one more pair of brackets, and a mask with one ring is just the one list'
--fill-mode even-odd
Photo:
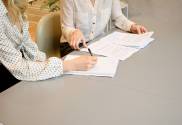
{"label": "pointing arm in plain white sleeve, including the hand", "polygon": [[73,0],[62,0],[61,3],[61,28],[64,39],[73,49],[79,50],[79,44],[87,47],[83,33],[74,26],[74,3]]}

